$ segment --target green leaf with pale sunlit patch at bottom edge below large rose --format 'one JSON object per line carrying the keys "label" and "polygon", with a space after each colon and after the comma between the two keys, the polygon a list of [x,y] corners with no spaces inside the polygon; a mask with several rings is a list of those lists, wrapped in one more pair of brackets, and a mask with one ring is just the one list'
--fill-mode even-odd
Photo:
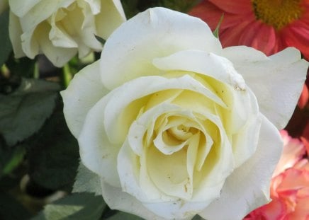
{"label": "green leaf with pale sunlit patch at bottom edge below large rose", "polygon": [[96,220],[100,219],[106,204],[101,196],[76,193],[47,204],[32,220]]}

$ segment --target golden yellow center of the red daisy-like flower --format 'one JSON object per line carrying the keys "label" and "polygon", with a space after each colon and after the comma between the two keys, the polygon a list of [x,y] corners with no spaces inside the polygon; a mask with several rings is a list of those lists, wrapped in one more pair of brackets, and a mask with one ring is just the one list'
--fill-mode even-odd
{"label": "golden yellow center of the red daisy-like flower", "polygon": [[300,0],[252,0],[257,20],[280,30],[297,20],[303,13]]}

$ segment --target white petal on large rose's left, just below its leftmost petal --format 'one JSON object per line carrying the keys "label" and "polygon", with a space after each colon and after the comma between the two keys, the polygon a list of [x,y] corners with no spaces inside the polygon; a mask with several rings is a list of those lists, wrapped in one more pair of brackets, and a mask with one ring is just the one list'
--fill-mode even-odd
{"label": "white petal on large rose's left, just below its leftmost petal", "polygon": [[117,172],[117,156],[120,145],[111,144],[104,129],[104,112],[112,92],[105,95],[89,110],[79,134],[79,154],[82,163],[98,174],[106,183],[120,187]]}

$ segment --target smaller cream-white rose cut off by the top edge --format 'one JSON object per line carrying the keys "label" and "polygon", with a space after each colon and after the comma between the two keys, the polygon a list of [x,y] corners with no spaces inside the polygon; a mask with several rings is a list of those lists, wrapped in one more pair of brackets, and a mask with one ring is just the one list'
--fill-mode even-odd
{"label": "smaller cream-white rose cut off by the top edge", "polygon": [[43,53],[55,66],[75,54],[101,51],[95,35],[106,39],[125,21],[120,0],[9,0],[9,34],[17,58]]}

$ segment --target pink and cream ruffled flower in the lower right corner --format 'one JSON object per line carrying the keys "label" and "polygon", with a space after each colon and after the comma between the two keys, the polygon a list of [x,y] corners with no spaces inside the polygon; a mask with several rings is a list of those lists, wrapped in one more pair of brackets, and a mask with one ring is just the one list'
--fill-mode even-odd
{"label": "pink and cream ruffled flower in the lower right corner", "polygon": [[309,219],[309,162],[305,146],[281,131],[284,147],[271,180],[271,202],[255,209],[245,220]]}

